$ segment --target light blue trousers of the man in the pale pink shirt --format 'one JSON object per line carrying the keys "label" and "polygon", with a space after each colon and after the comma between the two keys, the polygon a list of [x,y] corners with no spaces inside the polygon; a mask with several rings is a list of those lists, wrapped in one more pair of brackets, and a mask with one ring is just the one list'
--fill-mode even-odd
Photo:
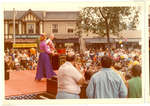
{"label": "light blue trousers of the man in the pale pink shirt", "polygon": [[56,95],[56,99],[80,99],[80,96],[78,94],[59,91]]}

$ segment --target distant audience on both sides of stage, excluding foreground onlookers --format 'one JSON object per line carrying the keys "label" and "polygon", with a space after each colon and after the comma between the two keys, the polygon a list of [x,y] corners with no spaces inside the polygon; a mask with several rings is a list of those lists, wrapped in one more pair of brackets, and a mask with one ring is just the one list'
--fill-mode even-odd
{"label": "distant audience on both sides of stage, excluding foreground onlookers", "polygon": [[[67,51],[71,48],[66,49]],[[115,67],[122,72],[128,70],[132,64],[141,64],[141,51],[139,49],[125,50],[122,48],[99,50],[89,49],[84,53],[75,51],[76,62],[87,69],[96,68],[102,56],[110,56],[114,60]],[[39,52],[32,54],[30,49],[11,49],[5,51],[5,60],[10,70],[36,70]]]}

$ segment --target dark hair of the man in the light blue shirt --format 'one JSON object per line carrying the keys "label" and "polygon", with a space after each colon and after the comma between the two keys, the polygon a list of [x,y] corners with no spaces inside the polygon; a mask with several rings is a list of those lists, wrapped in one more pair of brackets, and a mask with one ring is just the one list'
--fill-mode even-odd
{"label": "dark hair of the man in the light blue shirt", "polygon": [[110,68],[112,66],[112,59],[108,56],[103,56],[101,59],[101,65],[104,68]]}

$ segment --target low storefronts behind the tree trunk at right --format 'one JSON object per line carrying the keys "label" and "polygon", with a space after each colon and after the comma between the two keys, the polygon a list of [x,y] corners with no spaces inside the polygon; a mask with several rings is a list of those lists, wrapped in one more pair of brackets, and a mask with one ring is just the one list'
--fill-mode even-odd
{"label": "low storefronts behind the tree trunk at right", "polygon": [[107,38],[85,38],[86,48],[108,48],[110,45],[113,48],[141,48],[140,38],[129,38],[127,40],[120,38],[110,38],[110,44],[107,42]]}

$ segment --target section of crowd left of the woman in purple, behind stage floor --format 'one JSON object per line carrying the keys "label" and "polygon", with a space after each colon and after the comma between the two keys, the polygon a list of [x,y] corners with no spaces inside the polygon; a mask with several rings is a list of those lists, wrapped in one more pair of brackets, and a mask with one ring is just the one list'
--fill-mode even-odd
{"label": "section of crowd left of the woman in purple, behind stage floor", "polygon": [[36,70],[38,52],[32,54],[30,49],[8,49],[5,50],[4,59],[10,71]]}

